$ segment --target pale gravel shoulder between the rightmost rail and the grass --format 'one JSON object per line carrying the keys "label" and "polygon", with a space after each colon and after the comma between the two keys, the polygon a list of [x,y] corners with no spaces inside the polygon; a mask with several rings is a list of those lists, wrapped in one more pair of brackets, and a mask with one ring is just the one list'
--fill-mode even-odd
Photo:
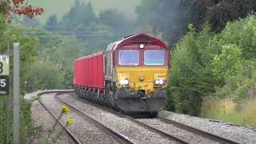
{"label": "pale gravel shoulder between the rightmost rail and the grass", "polygon": [[256,129],[246,126],[234,126],[227,122],[213,122],[210,119],[193,117],[185,114],[176,114],[170,111],[162,110],[159,117],[184,123],[188,126],[204,130],[211,134],[216,134],[223,138],[228,138],[238,143],[256,143]]}

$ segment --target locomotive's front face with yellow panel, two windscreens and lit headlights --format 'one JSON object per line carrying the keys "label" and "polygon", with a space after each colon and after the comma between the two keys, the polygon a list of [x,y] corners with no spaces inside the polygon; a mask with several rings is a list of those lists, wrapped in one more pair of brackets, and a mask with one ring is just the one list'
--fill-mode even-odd
{"label": "locomotive's front face with yellow panel, two windscreens and lit headlights", "polygon": [[115,52],[118,107],[157,114],[166,106],[169,51],[158,45],[132,44]]}

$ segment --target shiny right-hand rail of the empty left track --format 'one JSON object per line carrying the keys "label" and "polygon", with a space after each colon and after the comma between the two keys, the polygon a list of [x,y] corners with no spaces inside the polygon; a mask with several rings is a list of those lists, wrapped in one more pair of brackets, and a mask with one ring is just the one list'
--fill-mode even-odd
{"label": "shiny right-hand rail of the empty left track", "polygon": [[113,136],[118,142],[120,143],[129,143],[129,144],[134,144],[134,142],[132,142],[129,138],[127,138],[125,135],[118,133],[117,131],[114,131],[112,129],[110,129],[107,126],[104,126],[101,122],[98,122],[96,119],[91,118],[88,114],[85,114],[84,112],[82,112],[81,110],[78,110],[77,108],[75,108],[74,106],[70,105],[67,102],[64,102],[61,98],[58,98],[59,94],[65,94],[66,92],[60,92],[58,94],[55,94],[55,98],[59,101],[62,102],[64,104],[66,104],[66,106],[70,106],[71,109],[77,111],[78,113],[82,114],[82,116],[84,116],[89,122],[91,122],[92,124],[94,124],[94,126],[97,126],[99,129],[103,130],[106,134],[110,134],[110,136]]}

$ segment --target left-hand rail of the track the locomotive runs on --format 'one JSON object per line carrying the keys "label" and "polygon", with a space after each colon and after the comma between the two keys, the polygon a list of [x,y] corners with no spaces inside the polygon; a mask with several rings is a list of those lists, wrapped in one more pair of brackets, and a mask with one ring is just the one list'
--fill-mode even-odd
{"label": "left-hand rail of the track the locomotive runs on", "polygon": [[[65,93],[65,92],[63,92],[63,93]],[[61,93],[61,94],[63,94],[63,93]],[[58,98],[58,99],[60,99],[60,98]],[[107,108],[106,106],[101,106],[101,105],[98,105],[98,104],[93,103],[93,102],[88,102],[88,101],[86,101],[85,99],[82,99],[82,98],[79,98],[79,99],[81,99],[83,102],[89,103],[92,106],[95,106],[95,107],[98,107],[100,109],[106,110],[107,112],[110,112],[111,114],[118,115],[121,118],[127,118],[130,121],[137,123],[139,126],[142,126],[147,130],[150,130],[150,131],[152,131],[156,134],[160,134],[164,138],[169,138],[171,141],[175,141],[175,142],[182,143],[182,144],[188,144],[188,142],[183,141],[181,138],[175,137],[174,135],[171,135],[171,134],[167,134],[166,132],[164,132],[162,130],[158,130],[158,129],[154,128],[153,126],[146,125],[145,123],[140,122],[140,121],[136,120],[135,118],[131,118],[130,116],[127,116],[126,114],[122,114],[118,111],[111,110],[111,109]],[[66,103],[66,104],[68,105],[68,103]]]}

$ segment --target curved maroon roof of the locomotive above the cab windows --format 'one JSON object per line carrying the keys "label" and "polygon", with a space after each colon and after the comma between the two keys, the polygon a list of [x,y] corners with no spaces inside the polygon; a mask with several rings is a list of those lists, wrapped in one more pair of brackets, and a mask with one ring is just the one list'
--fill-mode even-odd
{"label": "curved maroon roof of the locomotive above the cab windows", "polygon": [[128,44],[132,43],[147,43],[147,44],[155,44],[158,46],[161,46],[165,49],[167,49],[167,46],[165,43],[160,41],[158,38],[151,37],[148,34],[132,34],[125,38],[122,38],[119,41],[112,42],[106,47],[106,51],[109,50],[116,50],[121,46],[126,46]]}

